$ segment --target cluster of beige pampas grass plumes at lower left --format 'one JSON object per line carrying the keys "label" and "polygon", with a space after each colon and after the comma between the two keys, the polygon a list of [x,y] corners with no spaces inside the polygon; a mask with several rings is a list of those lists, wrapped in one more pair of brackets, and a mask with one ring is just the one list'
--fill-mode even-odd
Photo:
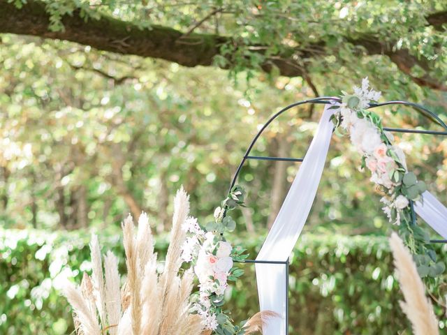
{"label": "cluster of beige pampas grass plumes at lower left", "polygon": [[[198,315],[189,314],[193,272],[184,271],[182,225],[189,215],[189,197],[179,190],[174,201],[173,229],[165,268],[157,271],[154,239],[149,219],[142,213],[138,232],[131,216],[122,224],[127,278],[120,289],[118,260],[110,253],[101,262],[98,238],[91,238],[92,278],[85,274],[81,288],[68,283],[64,294],[73,307],[79,335],[200,335],[203,325]],[[101,321],[101,322],[98,322]]]}

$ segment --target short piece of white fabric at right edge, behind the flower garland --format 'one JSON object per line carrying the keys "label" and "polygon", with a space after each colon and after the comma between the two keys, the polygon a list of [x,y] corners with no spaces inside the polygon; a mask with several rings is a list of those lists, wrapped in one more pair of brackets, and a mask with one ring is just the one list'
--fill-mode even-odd
{"label": "short piece of white fabric at right edge, behind the flower garland", "polygon": [[414,204],[414,210],[444,239],[447,239],[447,208],[432,193],[425,191],[423,201]]}

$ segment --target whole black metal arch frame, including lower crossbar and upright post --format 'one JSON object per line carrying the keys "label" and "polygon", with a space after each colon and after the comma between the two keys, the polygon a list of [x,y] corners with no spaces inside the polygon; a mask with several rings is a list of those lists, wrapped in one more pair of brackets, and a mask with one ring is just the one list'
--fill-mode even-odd
{"label": "whole black metal arch frame, including lower crossbar and upright post", "polygon": [[[237,167],[237,170],[233,176],[233,180],[230,184],[230,189],[228,190],[228,193],[230,193],[233,186],[236,184],[237,177],[239,176],[242,166],[248,159],[254,159],[254,160],[260,160],[260,161],[286,161],[286,162],[302,162],[304,158],[291,158],[291,157],[269,157],[269,156],[250,156],[251,149],[253,149],[254,144],[256,144],[256,141],[261,137],[263,131],[265,131],[266,128],[274,121],[274,119],[277,119],[281,114],[286,112],[287,110],[291,110],[293,107],[297,107],[299,105],[305,105],[308,103],[314,103],[314,104],[323,104],[328,105],[330,103],[341,103],[342,99],[330,97],[330,96],[323,96],[318,97],[314,99],[309,99],[306,101],[300,101],[297,103],[292,103],[291,105],[288,105],[284,107],[283,109],[279,110],[279,112],[276,112],[275,114],[268,119],[268,121],[264,124],[264,126],[258,131],[258,133],[255,135],[253,140],[251,140],[251,143],[249,144],[249,147],[247,148],[247,151],[244,154],[244,157],[242,158],[242,161],[240,162],[239,166]],[[383,128],[385,131],[395,132],[395,133],[419,133],[419,134],[428,134],[428,135],[444,135],[447,136],[447,125],[439,119],[437,114],[434,112],[431,112],[430,110],[427,110],[427,108],[423,107],[422,105],[419,105],[417,103],[410,103],[408,101],[387,101],[386,103],[370,103],[368,109],[376,108],[376,107],[382,107],[386,105],[404,105],[412,107],[414,110],[419,112],[420,114],[423,114],[424,117],[427,117],[431,121],[433,121],[436,124],[439,124],[442,128],[444,128],[446,131],[423,131],[418,129],[402,129],[402,128]],[[413,209],[413,201],[410,200],[411,204],[411,214],[413,218],[413,224],[416,224],[416,214]],[[447,243],[447,240],[445,239],[432,239],[430,240],[431,243]],[[251,263],[251,264],[278,264],[278,265],[285,265],[286,266],[286,334],[288,334],[288,268],[289,268],[289,260],[287,259],[284,261],[270,261],[270,260],[244,260],[243,263]]]}

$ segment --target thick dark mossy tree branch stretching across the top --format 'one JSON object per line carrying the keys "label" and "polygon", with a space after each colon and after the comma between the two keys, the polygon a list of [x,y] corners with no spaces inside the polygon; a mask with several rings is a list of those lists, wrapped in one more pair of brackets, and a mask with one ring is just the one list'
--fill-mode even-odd
{"label": "thick dark mossy tree branch stretching across the top", "polygon": [[[45,10],[45,3],[41,1],[29,0],[23,8],[17,9],[13,3],[0,0],[0,33],[70,40],[91,45],[98,50],[166,59],[183,66],[210,66],[214,57],[220,54],[221,45],[226,43],[237,45],[237,39],[228,36],[184,34],[182,31],[156,25],[150,29],[140,29],[131,22],[123,22],[105,15],[99,20],[89,19],[85,22],[85,19],[80,17],[79,11],[75,11],[71,16],[65,15],[62,22],[64,31],[48,30],[50,15]],[[446,22],[447,11],[427,17],[427,24],[437,30],[442,30]],[[447,91],[445,84],[437,82],[429,75],[423,77],[411,75],[414,66],[428,70],[428,62],[411,55],[408,50],[395,50],[395,43],[385,43],[374,34],[361,38],[346,37],[346,42],[364,47],[367,54],[388,56],[400,70],[421,86]],[[261,45],[251,49],[253,52],[263,52],[265,47]],[[303,66],[306,66],[309,60],[327,53],[324,42],[315,43],[305,50],[291,48],[281,55],[270,57],[261,67],[265,71],[270,71],[276,66],[281,75],[302,76],[305,73]],[[228,60],[231,62],[231,59]]]}

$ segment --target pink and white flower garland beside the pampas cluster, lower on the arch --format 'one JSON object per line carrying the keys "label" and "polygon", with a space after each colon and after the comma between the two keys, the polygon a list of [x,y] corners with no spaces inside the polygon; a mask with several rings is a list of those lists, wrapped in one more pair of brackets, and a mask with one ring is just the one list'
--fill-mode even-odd
{"label": "pink and white flower garland beside the pampas cluster, lower on the arch", "polygon": [[228,281],[235,281],[244,274],[233,267],[233,260],[241,262],[247,255],[245,249],[231,246],[223,237],[224,232],[235,230],[236,223],[228,211],[244,204],[244,190],[235,186],[221,207],[214,211],[214,221],[200,226],[196,219],[186,221],[184,229],[189,237],[182,246],[182,259],[192,262],[199,281],[199,292],[192,297],[191,313],[202,318],[206,329],[216,334],[245,334],[243,324],[233,325],[228,311],[223,310],[223,297]]}

